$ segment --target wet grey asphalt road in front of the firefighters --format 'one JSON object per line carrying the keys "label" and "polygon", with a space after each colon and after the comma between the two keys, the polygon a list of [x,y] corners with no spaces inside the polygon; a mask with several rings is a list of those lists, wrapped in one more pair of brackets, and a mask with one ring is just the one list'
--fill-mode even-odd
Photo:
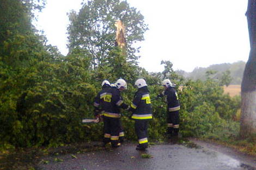
{"label": "wet grey asphalt road in front of the firefighters", "polygon": [[[199,143],[203,146],[204,143]],[[45,170],[256,170],[256,158],[229,156],[214,148],[187,147],[186,144],[157,144],[147,151],[135,150],[136,144],[125,143],[120,148],[104,148],[97,151],[46,156],[47,163],[40,162],[36,169]],[[151,158],[142,158],[152,156]]]}

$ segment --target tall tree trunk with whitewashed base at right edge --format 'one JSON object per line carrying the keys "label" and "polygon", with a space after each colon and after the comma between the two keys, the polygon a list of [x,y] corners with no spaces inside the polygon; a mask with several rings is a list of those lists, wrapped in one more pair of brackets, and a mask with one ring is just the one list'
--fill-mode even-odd
{"label": "tall tree trunk with whitewashed base at right edge", "polygon": [[242,80],[242,138],[256,135],[256,0],[248,0],[246,16],[251,51]]}

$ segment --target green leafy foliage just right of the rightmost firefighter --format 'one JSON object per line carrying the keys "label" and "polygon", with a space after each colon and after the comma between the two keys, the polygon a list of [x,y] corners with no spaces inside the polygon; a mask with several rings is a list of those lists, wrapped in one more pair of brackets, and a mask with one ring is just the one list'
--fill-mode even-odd
{"label": "green leafy foliage just right of the rightmost firefighter", "polygon": [[[227,120],[235,118],[240,98],[223,95],[215,81],[188,81],[180,94],[181,119],[185,135],[201,136],[213,133]],[[192,133],[192,134],[191,134]]]}

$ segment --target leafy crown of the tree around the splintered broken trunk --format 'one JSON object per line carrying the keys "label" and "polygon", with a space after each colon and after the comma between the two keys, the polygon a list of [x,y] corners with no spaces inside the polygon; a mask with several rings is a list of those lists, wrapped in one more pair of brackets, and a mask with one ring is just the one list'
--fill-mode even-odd
{"label": "leafy crown of the tree around the splintered broken trunk", "polygon": [[92,65],[108,61],[109,52],[115,47],[115,22],[125,25],[127,60],[136,63],[138,48],[132,43],[144,40],[148,29],[144,17],[136,8],[130,8],[126,1],[90,0],[78,12],[69,14],[69,52],[82,48],[92,56]]}

